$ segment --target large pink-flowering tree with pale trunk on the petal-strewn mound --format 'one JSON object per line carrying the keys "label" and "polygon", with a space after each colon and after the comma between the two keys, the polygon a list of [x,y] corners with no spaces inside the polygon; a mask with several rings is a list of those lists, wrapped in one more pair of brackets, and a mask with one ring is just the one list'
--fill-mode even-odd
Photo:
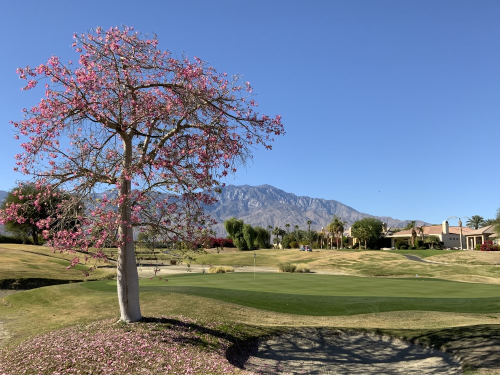
{"label": "large pink-flowering tree with pale trunk on the petal-strewn mound", "polygon": [[[12,121],[16,137],[26,139],[15,169],[42,195],[65,191],[92,203],[85,213],[60,204],[37,225],[54,249],[116,246],[121,320],[137,321],[133,230],[164,242],[206,235],[210,192],[254,146],[271,148],[283,127],[280,116],[256,113],[249,82],[197,57],[177,59],[158,49],[155,36],[123,26],[73,38],[77,63],[52,56],[17,70],[27,81],[23,89],[43,82],[45,96]],[[7,207],[1,219],[16,212]],[[57,225],[68,215],[76,217],[74,227]]]}

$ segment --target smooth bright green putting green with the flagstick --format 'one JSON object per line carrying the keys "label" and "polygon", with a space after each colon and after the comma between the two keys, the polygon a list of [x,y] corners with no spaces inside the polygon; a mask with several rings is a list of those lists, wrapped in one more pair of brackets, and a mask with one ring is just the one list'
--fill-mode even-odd
{"label": "smooth bright green putting green with the flagstick", "polygon": [[[113,281],[85,283],[115,292]],[[141,280],[141,292],[213,298],[274,312],[337,316],[385,311],[500,312],[500,286],[432,278],[293,273],[180,274]]]}

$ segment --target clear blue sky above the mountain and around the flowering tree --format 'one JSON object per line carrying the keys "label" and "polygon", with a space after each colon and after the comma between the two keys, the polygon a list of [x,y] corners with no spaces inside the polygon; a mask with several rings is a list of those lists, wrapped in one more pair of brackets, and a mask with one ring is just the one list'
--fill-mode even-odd
{"label": "clear blue sky above the mountain and around the flowering tree", "polygon": [[[500,1],[11,1],[0,5],[0,189],[35,104],[15,68],[75,59],[73,32],[121,24],[242,73],[286,135],[227,183],[440,223],[500,207]],[[456,219],[450,219],[456,225]]]}

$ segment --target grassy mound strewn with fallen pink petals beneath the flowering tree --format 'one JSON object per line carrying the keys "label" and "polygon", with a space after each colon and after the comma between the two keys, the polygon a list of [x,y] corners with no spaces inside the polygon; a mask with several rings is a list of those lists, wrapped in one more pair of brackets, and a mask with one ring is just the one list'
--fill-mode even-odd
{"label": "grassy mound strewn with fallen pink petals beneath the flowering tree", "polygon": [[182,316],[76,325],[0,349],[0,374],[251,374],[227,360],[223,330]]}

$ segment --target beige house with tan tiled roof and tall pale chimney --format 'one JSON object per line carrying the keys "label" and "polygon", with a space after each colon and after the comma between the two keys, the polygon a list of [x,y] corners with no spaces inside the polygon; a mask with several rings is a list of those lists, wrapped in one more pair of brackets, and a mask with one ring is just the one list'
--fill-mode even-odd
{"label": "beige house with tan tiled roof and tall pale chimney", "polygon": [[[420,231],[419,228],[422,228]],[[474,229],[465,226],[449,226],[448,221],[444,220],[441,225],[422,225],[415,227],[417,234],[416,238],[424,238],[429,235],[435,235],[443,242],[444,248],[464,248],[466,235]],[[395,247],[397,239],[403,240],[408,245],[411,245],[411,229],[404,229],[398,232],[391,233],[388,231],[384,238],[390,238],[390,247]],[[467,247],[468,248],[468,247]],[[472,247],[473,249],[473,247]]]}

